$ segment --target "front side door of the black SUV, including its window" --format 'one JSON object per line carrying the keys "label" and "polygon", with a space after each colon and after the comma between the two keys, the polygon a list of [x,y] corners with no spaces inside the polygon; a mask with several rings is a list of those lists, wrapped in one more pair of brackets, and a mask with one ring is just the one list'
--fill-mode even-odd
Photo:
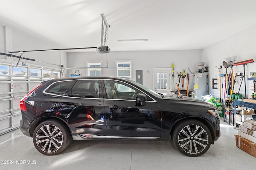
{"label": "front side door of the black SUV, including its window", "polygon": [[136,94],[143,93],[138,88],[119,80],[103,82],[108,138],[159,139],[161,114],[157,102],[148,96],[145,106],[136,106]]}

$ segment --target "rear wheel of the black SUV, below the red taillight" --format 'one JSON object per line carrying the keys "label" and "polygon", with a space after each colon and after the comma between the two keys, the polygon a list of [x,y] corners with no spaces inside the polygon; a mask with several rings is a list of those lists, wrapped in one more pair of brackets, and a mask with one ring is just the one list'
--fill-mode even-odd
{"label": "rear wheel of the black SUV, below the red taillight", "polygon": [[47,120],[40,123],[33,133],[36,149],[45,155],[56,155],[62,152],[72,140],[68,129],[58,120]]}

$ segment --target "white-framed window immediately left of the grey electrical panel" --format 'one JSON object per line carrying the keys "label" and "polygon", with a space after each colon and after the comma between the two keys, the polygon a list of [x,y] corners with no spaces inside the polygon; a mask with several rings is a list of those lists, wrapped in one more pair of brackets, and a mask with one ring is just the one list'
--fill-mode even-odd
{"label": "white-framed window immediately left of the grey electrical panel", "polygon": [[131,63],[130,62],[117,62],[116,63],[116,76],[121,78],[131,78]]}

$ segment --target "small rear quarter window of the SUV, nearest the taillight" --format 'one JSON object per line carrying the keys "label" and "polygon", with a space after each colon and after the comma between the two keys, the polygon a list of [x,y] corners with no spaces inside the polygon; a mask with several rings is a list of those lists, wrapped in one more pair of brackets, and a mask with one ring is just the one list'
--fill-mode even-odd
{"label": "small rear quarter window of the SUV, nearest the taillight", "polygon": [[46,93],[58,94],[63,95],[66,93],[66,90],[71,85],[73,81],[62,81],[56,82],[52,84],[49,88],[45,90]]}

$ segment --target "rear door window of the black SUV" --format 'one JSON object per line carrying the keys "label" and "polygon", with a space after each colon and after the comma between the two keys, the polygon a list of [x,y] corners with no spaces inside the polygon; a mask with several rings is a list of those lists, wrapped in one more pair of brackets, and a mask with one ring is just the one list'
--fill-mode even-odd
{"label": "rear door window of the black SUV", "polygon": [[78,80],[71,90],[72,97],[99,98],[98,80]]}

